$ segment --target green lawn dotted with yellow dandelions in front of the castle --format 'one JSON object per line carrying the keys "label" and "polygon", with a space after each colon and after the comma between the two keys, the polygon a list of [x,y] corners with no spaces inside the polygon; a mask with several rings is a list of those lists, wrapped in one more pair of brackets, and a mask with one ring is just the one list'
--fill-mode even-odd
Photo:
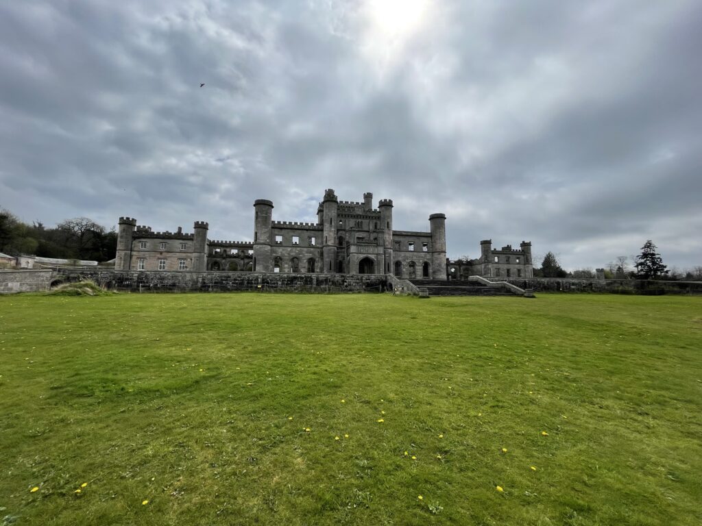
{"label": "green lawn dotted with yellow dandelions in front of the castle", "polygon": [[700,524],[701,343],[696,297],[0,297],[0,524]]}

